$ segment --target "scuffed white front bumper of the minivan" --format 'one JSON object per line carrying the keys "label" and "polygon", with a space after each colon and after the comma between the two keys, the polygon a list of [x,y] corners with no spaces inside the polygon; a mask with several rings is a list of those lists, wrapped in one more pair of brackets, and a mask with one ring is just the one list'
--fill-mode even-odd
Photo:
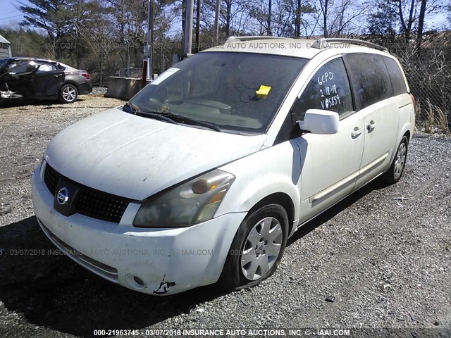
{"label": "scuffed white front bumper of the minivan", "polygon": [[[88,270],[147,294],[165,295],[217,282],[233,237],[246,213],[228,213],[192,227],[142,229],[131,225],[137,204],[120,224],[54,210],[54,196],[32,177],[32,199],[47,237]],[[130,209],[130,210],[129,210]]]}

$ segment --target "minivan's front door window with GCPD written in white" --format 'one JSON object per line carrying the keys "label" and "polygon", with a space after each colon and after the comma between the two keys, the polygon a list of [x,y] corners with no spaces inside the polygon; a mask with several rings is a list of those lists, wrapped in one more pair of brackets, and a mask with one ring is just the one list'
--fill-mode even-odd
{"label": "minivan's front door window with GCPD written in white", "polygon": [[350,83],[342,58],[323,65],[311,77],[309,84],[292,106],[293,123],[304,120],[308,109],[324,109],[345,115],[354,111]]}

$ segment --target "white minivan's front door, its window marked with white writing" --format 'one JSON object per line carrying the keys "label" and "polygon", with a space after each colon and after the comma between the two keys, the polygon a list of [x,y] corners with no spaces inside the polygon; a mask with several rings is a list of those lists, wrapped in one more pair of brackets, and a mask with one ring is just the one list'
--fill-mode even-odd
{"label": "white minivan's front door, its window marked with white writing", "polygon": [[340,116],[336,134],[306,133],[295,139],[301,156],[301,218],[304,223],[352,192],[364,151],[364,119],[354,111],[350,82],[341,57],[319,67],[292,107],[293,123],[308,109]]}

